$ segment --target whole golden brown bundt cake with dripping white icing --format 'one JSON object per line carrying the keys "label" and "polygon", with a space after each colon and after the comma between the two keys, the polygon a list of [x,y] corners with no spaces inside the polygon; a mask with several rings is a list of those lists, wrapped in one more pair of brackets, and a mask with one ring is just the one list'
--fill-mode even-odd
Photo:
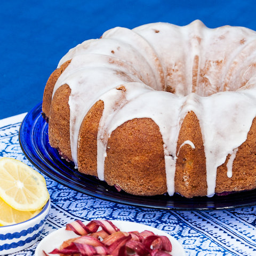
{"label": "whole golden brown bundt cake with dripping white icing", "polygon": [[47,81],[49,141],[133,195],[256,188],[256,32],[194,21],[113,28]]}

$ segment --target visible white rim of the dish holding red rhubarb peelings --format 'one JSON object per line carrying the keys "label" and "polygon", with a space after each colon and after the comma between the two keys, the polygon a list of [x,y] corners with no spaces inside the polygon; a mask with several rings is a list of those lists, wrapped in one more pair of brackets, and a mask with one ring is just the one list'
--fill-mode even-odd
{"label": "visible white rim of the dish holding red rhubarb peelings", "polygon": [[[142,232],[144,230],[152,231],[155,235],[159,236],[167,236],[172,244],[172,256],[186,256],[184,249],[181,244],[172,236],[166,234],[164,231],[135,223],[129,221],[121,221],[121,220],[111,220],[113,224],[118,227],[121,231],[129,232],[129,231],[139,231]],[[86,225],[89,221],[85,221]],[[42,241],[37,245],[35,256],[44,256],[43,250],[46,253],[53,251],[55,248],[59,248],[59,246],[67,239],[78,237],[73,231],[66,230],[65,227],[55,230],[53,233],[47,235]],[[50,254],[54,255],[54,254]]]}

